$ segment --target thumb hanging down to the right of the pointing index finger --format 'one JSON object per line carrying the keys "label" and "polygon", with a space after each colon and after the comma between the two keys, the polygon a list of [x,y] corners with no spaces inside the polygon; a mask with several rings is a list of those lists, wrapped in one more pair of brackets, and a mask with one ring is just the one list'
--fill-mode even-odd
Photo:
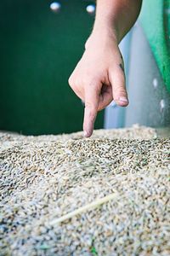
{"label": "thumb hanging down to the right of the pointing index finger", "polygon": [[117,105],[126,107],[128,105],[125,74],[122,64],[116,69],[111,70],[110,81],[112,87],[113,99]]}

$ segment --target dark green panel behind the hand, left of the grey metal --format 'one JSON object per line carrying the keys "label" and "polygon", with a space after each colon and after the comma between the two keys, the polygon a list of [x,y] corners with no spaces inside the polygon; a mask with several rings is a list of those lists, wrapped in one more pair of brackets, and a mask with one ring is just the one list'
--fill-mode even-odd
{"label": "dark green panel behind the hand, left of the grey metal", "polygon": [[[0,2],[0,130],[56,134],[82,130],[83,106],[68,86],[94,17],[91,1]],[[96,128],[103,126],[99,114]]]}

